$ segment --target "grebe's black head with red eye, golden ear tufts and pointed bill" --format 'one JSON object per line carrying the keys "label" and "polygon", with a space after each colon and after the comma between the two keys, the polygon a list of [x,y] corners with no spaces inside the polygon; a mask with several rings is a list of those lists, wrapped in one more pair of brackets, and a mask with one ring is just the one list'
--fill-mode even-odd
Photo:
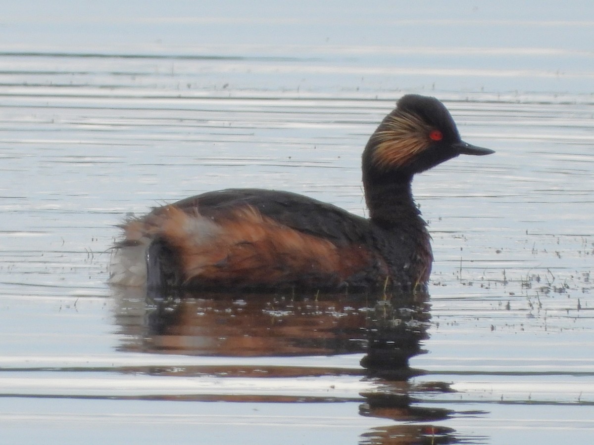
{"label": "grebe's black head with red eye, golden ear tufts and pointed bill", "polygon": [[410,181],[413,174],[459,154],[493,152],[462,141],[450,113],[436,98],[407,94],[369,138],[363,180],[365,184]]}

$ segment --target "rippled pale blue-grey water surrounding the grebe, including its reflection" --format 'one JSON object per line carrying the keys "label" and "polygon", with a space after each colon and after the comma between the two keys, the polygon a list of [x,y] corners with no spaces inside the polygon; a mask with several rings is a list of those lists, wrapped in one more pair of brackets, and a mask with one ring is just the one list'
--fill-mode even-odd
{"label": "rippled pale blue-grey water surrounding the grebe, including its reflection", "polygon": [[[345,4],[327,28],[323,12],[149,5],[109,33],[93,8],[13,6],[2,25],[0,441],[587,443],[589,18]],[[411,46],[419,26],[441,40]],[[497,151],[415,179],[430,297],[106,285],[125,214],[188,195],[285,189],[364,215],[362,147],[411,92]]]}

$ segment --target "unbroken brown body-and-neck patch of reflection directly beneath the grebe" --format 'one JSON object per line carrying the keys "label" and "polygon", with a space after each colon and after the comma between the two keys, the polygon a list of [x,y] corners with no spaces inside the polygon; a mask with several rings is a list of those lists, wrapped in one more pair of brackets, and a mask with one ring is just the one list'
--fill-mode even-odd
{"label": "unbroken brown body-and-neck patch of reflection directly beneath the grebe", "polygon": [[245,294],[116,289],[126,351],[225,357],[366,353],[370,376],[409,377],[422,352],[426,293]]}

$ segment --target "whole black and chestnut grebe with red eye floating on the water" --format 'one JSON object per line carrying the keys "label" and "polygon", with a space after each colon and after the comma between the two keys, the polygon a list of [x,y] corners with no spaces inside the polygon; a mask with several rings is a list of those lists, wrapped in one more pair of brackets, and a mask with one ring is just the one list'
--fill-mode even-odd
{"label": "whole black and chestnut grebe with red eye floating on the water", "polygon": [[487,148],[460,139],[445,106],[407,95],[363,152],[369,218],[289,192],[229,189],[125,222],[110,282],[149,288],[337,290],[425,286],[433,260],[410,183],[415,173]]}

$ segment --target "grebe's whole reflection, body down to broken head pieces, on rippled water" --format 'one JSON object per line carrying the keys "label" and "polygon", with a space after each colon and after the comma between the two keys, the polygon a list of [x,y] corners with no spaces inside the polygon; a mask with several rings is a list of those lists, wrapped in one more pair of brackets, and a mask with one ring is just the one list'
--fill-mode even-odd
{"label": "grebe's whole reflection, body down to broken head pieces, on rippled water", "polygon": [[[423,424],[445,419],[450,411],[425,408],[415,398],[447,390],[447,385],[423,388],[410,382],[423,373],[410,368],[409,359],[426,352],[422,341],[428,338],[431,317],[425,291],[406,296],[114,291],[116,321],[125,334],[122,351],[280,357],[279,363],[282,357],[363,354],[361,367],[355,369],[280,365],[264,371],[269,377],[359,375],[374,383],[372,390],[360,393],[360,415],[415,422],[374,428],[361,436],[361,443],[457,441],[449,428]],[[232,376],[231,368],[201,367],[196,374]],[[263,367],[257,368],[251,373],[249,366],[242,367],[241,375],[261,376]],[[400,441],[393,441],[395,437]]]}

